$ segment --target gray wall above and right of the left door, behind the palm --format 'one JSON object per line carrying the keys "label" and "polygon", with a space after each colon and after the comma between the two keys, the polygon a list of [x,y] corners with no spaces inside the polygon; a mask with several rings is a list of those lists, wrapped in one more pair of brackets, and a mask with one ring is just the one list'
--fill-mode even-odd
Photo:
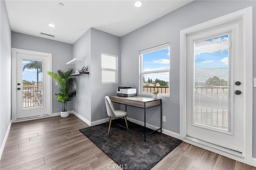
{"label": "gray wall above and right of the left door, behind the palm", "polygon": [[[32,35],[12,32],[12,48],[51,53],[53,72],[58,69],[67,71],[66,63],[72,60],[72,44]],[[55,86],[55,80],[52,80],[52,113],[58,113],[62,109],[62,104],[57,101],[55,93],[58,93],[58,86]],[[68,102],[68,109],[73,110],[72,102]]]}

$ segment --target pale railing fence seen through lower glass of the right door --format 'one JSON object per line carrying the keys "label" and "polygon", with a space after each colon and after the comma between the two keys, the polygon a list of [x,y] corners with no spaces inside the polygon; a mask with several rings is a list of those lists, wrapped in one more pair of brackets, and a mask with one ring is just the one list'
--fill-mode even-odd
{"label": "pale railing fence seen through lower glass of the right door", "polygon": [[194,123],[228,130],[228,86],[195,86]]}

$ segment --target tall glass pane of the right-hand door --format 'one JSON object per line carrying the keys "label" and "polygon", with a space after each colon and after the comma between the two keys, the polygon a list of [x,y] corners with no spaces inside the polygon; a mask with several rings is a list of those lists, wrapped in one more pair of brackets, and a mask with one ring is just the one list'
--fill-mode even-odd
{"label": "tall glass pane of the right-hand door", "polygon": [[194,43],[194,124],[229,131],[229,35]]}

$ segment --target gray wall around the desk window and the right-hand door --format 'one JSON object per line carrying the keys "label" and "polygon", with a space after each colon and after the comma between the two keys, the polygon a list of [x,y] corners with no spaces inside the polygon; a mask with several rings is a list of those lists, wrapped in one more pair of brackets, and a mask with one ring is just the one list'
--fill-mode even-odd
{"label": "gray wall around the desk window and the right-hand door", "polygon": [[[163,128],[179,133],[179,82],[180,82],[180,30],[212,20],[249,6],[253,6],[253,60],[256,77],[256,1],[193,1],[127,35],[121,37],[121,85],[139,89],[139,51],[170,43],[170,97],[162,97],[163,115],[166,123]],[[253,107],[253,156],[256,157],[256,90],[254,88]],[[129,117],[143,121],[141,109],[128,108]],[[157,125],[158,110],[148,110],[148,122]],[[156,117],[151,119],[151,117]]]}

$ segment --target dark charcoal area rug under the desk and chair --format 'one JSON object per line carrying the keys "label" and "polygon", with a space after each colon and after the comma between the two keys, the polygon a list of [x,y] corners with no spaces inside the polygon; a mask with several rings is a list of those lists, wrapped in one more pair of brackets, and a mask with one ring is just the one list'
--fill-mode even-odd
{"label": "dark charcoal area rug under the desk and chair", "polygon": [[[123,119],[114,120],[125,126]],[[168,135],[156,132],[146,137],[144,127],[128,122],[129,129],[114,123],[108,135],[108,123],[80,129],[88,139],[112,158],[120,167],[128,170],[150,170],[182,141]],[[147,128],[147,134],[152,130]]]}

